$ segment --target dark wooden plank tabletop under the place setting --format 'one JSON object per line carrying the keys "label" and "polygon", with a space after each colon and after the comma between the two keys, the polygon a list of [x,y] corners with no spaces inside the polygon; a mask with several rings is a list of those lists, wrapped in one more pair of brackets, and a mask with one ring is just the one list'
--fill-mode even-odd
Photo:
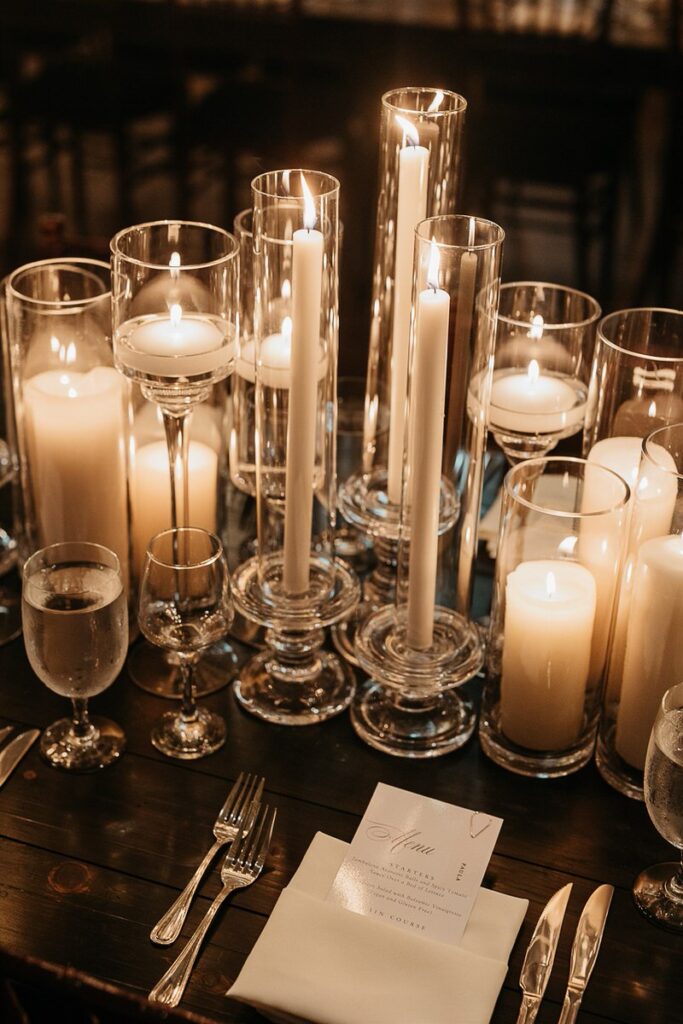
{"label": "dark wooden plank tabletop under the place setting", "polygon": [[[471,684],[475,691],[478,686]],[[530,905],[496,1024],[515,1021],[531,930],[545,902],[567,881],[574,887],[542,1024],[557,1020],[573,930],[602,882],[615,893],[580,1020],[680,1024],[683,937],[649,925],[631,899],[638,871],[672,859],[673,851],[644,806],[612,791],[592,765],[560,781],[524,779],[495,766],[476,739],[458,754],[411,762],[366,746],[346,715],[287,728],[247,716],[229,689],[207,703],[227,718],[225,748],[204,761],[169,761],[150,742],[152,724],[168,702],[140,691],[124,673],[93,700],[95,713],[125,727],[128,751],[120,764],[70,776],[47,767],[34,746],[0,791],[0,977],[18,981],[19,995],[47,993],[51,1012],[32,1016],[32,1024],[73,1024],[81,1019],[74,1009],[81,1004],[100,1021],[159,1019],[145,994],[179,943],[156,947],[150,929],[210,844],[215,814],[241,769],[267,777],[267,799],[279,809],[271,853],[258,883],[220,914],[170,1019],[262,1019],[223,993],[314,834],[350,840],[381,780],[505,818],[485,885],[526,897]],[[0,724],[43,727],[66,711],[67,702],[33,675],[20,639],[0,649]],[[185,938],[217,887],[214,871],[190,911]],[[54,1016],[55,1004],[65,999],[72,1000],[71,1015]],[[455,1008],[453,1020],[458,1024]]]}

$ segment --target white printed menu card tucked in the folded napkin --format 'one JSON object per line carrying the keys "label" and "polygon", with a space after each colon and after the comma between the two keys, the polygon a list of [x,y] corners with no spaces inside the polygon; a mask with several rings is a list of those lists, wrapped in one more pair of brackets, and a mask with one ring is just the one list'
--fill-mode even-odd
{"label": "white printed menu card tucked in the folded napkin", "polygon": [[327,898],[457,946],[502,824],[380,782]]}

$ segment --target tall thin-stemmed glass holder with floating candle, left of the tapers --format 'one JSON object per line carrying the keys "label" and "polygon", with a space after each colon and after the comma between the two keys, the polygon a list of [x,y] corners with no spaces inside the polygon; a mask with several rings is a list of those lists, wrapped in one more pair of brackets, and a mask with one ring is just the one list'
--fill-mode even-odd
{"label": "tall thin-stemmed glass holder with floating candle, left of the tapers", "polygon": [[[116,366],[161,411],[171,525],[187,525],[196,513],[188,462],[193,412],[234,362],[238,245],[209,224],[156,221],[125,228],[111,248]],[[143,658],[141,671],[131,663],[136,681],[150,674],[145,688],[179,695],[178,673],[148,653],[142,645],[136,649],[135,657]],[[214,655],[222,657],[226,683],[234,654],[224,645]]]}

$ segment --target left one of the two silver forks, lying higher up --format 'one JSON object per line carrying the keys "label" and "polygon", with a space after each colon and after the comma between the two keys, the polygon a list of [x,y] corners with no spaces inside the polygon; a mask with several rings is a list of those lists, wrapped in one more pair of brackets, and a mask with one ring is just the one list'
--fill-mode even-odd
{"label": "left one of the two silver forks, lying higher up", "polygon": [[227,800],[218,811],[213,824],[215,843],[207,852],[202,863],[182,890],[178,898],[168,908],[150,933],[150,938],[160,946],[168,946],[175,942],[187,916],[189,904],[204,878],[207,867],[222,846],[231,843],[245,829],[247,815],[254,805],[258,808],[263,795],[265,779],[261,776],[240,772],[238,779],[227,795]]}

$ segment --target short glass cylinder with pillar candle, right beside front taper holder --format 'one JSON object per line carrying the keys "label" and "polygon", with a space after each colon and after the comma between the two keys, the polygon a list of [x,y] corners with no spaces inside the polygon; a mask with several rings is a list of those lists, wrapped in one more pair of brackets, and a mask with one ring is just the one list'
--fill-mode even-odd
{"label": "short glass cylinder with pillar candle, right beside front taper holder", "polygon": [[583,459],[505,477],[479,738],[510,771],[552,778],[592,756],[630,505]]}

